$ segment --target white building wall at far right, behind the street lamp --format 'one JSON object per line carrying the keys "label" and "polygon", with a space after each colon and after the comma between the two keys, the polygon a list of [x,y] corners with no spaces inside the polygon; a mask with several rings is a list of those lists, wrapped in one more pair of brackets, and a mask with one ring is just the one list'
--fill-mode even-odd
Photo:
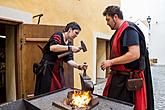
{"label": "white building wall at far right, behind the street lamp", "polygon": [[150,58],[158,59],[157,65],[165,65],[165,22],[152,24],[149,53]]}

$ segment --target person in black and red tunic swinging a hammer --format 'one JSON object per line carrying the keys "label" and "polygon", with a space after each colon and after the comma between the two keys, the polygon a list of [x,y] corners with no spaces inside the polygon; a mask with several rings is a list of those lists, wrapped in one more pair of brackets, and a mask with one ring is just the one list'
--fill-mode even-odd
{"label": "person in black and red tunic swinging a hammer", "polygon": [[[57,32],[51,36],[43,48],[43,58],[40,62],[42,66],[37,73],[34,95],[58,90],[65,86],[63,61],[79,70],[87,68],[87,64],[77,64],[73,60],[73,53],[81,50],[80,47],[72,45],[73,39],[80,31],[81,28],[76,22],[70,22],[63,32]],[[71,54],[58,58],[58,55],[68,51],[71,51]]]}

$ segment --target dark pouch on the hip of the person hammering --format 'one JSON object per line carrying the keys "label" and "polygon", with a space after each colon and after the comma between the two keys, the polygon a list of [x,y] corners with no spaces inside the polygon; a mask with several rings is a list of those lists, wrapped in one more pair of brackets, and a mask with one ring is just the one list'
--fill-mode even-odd
{"label": "dark pouch on the hip of the person hammering", "polygon": [[43,63],[34,63],[33,64],[33,72],[36,75],[43,74],[44,69],[45,69],[45,66]]}

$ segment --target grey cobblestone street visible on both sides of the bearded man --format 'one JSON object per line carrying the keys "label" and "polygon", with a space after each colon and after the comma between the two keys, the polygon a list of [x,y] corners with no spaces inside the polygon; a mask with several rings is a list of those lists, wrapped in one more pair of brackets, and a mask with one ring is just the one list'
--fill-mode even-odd
{"label": "grey cobblestone street visible on both sides of the bearded man", "polygon": [[[151,72],[155,110],[165,110],[165,65],[151,66]],[[105,82],[95,85],[94,93],[102,95],[104,86]]]}

